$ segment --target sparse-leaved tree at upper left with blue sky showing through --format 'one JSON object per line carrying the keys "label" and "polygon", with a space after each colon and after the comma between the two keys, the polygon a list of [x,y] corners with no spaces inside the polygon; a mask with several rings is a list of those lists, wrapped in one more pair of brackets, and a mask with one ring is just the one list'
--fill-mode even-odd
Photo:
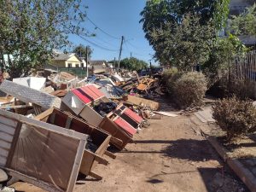
{"label": "sparse-leaved tree at upper left with blue sky showing through", "polygon": [[0,3],[0,64],[12,78],[44,65],[53,56],[52,49],[65,49],[68,34],[88,35],[80,27],[86,16],[81,0]]}

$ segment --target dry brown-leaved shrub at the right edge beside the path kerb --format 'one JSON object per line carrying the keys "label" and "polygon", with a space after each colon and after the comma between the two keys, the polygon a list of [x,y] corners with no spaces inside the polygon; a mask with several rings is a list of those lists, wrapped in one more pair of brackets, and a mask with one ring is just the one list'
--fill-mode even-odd
{"label": "dry brown-leaved shrub at the right edge beside the path kerb", "polygon": [[218,100],[212,106],[212,116],[217,125],[227,132],[227,141],[256,131],[256,108],[253,103],[236,96]]}

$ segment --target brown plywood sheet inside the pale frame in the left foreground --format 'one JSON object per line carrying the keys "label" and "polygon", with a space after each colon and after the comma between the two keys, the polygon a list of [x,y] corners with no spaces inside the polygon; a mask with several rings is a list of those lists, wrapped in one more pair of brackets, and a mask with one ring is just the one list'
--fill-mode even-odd
{"label": "brown plywood sheet inside the pale frame in the left foreground", "polygon": [[64,190],[69,183],[78,145],[79,140],[22,125],[9,168]]}

